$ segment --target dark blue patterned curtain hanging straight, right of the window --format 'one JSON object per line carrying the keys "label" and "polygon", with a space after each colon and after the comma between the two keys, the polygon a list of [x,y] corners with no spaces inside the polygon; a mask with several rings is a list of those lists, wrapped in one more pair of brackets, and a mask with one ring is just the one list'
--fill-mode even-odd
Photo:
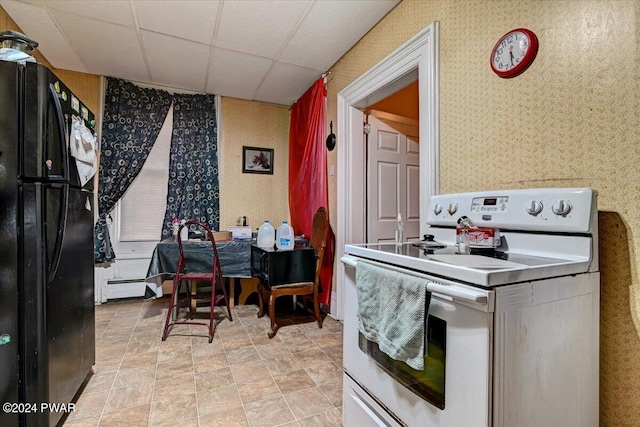
{"label": "dark blue patterned curtain hanging straight, right of the window", "polygon": [[218,128],[214,95],[173,96],[173,131],[167,210],[162,239],[171,236],[174,218],[220,224]]}

